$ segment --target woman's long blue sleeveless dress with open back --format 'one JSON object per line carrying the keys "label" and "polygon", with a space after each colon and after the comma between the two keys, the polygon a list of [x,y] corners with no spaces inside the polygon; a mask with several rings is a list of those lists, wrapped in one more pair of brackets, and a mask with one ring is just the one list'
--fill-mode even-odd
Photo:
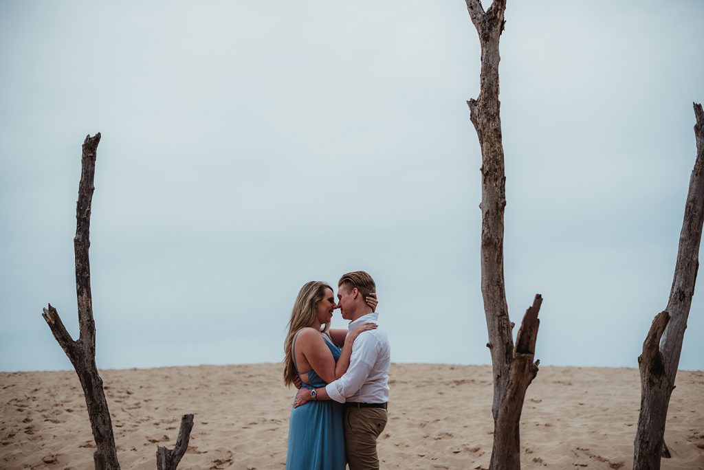
{"label": "woman's long blue sleeveless dress with open back", "polygon": [[[298,332],[300,333],[300,331]],[[322,335],[325,344],[332,352],[335,362],[340,357],[341,350]],[[294,367],[300,378],[301,372],[296,365],[296,339],[292,354]],[[305,372],[303,373],[305,374]],[[313,369],[308,371],[308,383],[301,388],[325,387],[323,381]],[[286,452],[287,470],[344,470],[347,464],[345,457],[344,409],[341,403],[334,400],[310,400],[306,405],[291,409],[289,420],[289,445]]]}

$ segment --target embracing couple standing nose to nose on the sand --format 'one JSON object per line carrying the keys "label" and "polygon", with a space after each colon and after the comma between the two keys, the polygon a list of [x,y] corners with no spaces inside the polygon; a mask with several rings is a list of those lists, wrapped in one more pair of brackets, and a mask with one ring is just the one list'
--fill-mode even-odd
{"label": "embracing couple standing nose to nose on the sand", "polygon": [[[377,437],[386,426],[389,339],[378,328],[374,279],[344,274],[337,288],[301,288],[284,343],[284,383],[300,386],[289,422],[287,470],[378,469]],[[348,330],[330,329],[340,309]]]}

